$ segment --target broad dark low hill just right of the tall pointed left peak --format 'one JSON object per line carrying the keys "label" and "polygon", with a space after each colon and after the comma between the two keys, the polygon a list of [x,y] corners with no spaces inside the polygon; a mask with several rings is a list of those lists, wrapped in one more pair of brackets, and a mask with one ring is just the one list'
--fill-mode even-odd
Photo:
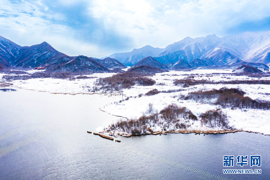
{"label": "broad dark low hill just right of the tall pointed left peak", "polygon": [[[61,58],[64,60],[63,57]],[[62,64],[51,64],[46,69],[58,72],[109,71],[106,67],[103,67],[93,58],[88,58],[87,56],[83,55],[76,56],[68,62],[63,61]]]}

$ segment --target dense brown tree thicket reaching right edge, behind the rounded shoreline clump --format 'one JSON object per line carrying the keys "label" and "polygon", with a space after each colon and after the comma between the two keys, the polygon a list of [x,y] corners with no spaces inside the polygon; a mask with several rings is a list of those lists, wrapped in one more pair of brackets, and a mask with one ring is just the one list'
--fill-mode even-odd
{"label": "dense brown tree thicket reaching right edge, behind the rounded shoreline clump", "polygon": [[[208,101],[209,104],[218,104],[223,108],[236,107],[236,108],[251,108],[251,109],[270,109],[269,101],[256,101],[250,97],[244,97],[245,92],[236,88],[221,88],[219,90],[213,89],[210,91],[197,91],[189,92],[185,100],[193,99],[195,101]],[[217,99],[215,102],[211,102]]]}

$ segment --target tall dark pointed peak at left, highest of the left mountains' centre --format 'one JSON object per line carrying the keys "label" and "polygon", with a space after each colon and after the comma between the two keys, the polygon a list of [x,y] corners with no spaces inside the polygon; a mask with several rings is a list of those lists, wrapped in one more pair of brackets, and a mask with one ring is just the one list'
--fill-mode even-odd
{"label": "tall dark pointed peak at left, highest of the left mountains' centre", "polygon": [[23,46],[19,50],[19,57],[16,59],[16,67],[34,68],[44,65],[44,62],[61,52],[55,50],[46,42],[33,46]]}

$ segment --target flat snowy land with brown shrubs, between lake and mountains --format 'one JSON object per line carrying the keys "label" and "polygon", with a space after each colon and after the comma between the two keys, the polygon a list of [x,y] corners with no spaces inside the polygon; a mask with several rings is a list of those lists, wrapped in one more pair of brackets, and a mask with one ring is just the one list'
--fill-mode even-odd
{"label": "flat snowy land with brown shrubs, between lake and mountains", "polygon": [[[26,76],[32,73],[35,71]],[[104,106],[100,110],[119,116],[119,120],[97,129],[104,134],[130,137],[248,131],[270,135],[270,75],[266,73],[196,69],[150,75],[124,71],[10,81],[7,76],[22,75],[2,73],[0,84],[53,94],[110,96],[110,101],[101,98]]]}

